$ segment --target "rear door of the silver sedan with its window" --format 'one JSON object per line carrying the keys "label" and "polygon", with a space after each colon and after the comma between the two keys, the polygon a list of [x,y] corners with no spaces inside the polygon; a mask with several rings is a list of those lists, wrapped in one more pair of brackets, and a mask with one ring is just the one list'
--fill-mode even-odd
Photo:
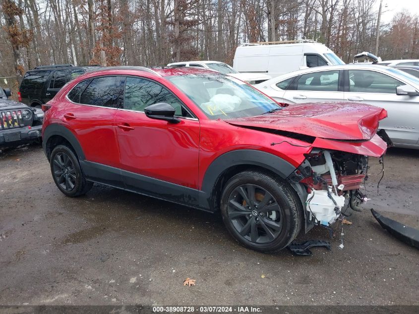
{"label": "rear door of the silver sedan with its window", "polygon": [[329,70],[302,74],[284,93],[286,103],[343,101],[343,71]]}

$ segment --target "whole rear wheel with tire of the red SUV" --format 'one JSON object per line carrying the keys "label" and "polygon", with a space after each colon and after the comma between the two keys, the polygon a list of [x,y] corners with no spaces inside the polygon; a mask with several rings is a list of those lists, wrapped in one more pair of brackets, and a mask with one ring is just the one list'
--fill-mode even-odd
{"label": "whole rear wheel with tire of the red SUV", "polygon": [[76,154],[68,146],[58,145],[53,149],[50,165],[54,182],[65,195],[84,195],[92,188],[93,183],[86,180]]}

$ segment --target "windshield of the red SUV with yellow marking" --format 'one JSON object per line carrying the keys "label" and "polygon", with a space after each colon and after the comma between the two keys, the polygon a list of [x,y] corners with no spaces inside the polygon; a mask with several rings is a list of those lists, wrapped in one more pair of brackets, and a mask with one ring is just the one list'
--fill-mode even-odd
{"label": "windshield of the red SUV with yellow marking", "polygon": [[253,87],[221,74],[167,77],[210,119],[254,117],[281,107]]}

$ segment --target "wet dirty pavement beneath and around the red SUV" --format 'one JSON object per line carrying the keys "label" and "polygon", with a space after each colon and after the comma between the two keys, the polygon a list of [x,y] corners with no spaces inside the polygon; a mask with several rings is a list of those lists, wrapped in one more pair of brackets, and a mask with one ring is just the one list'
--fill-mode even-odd
{"label": "wet dirty pavement beneath and around the red SUV", "polygon": [[[419,151],[371,159],[365,208],[419,228]],[[419,305],[419,250],[354,212],[309,257],[239,246],[219,215],[95,185],[68,198],[42,148],[0,152],[0,305]],[[184,287],[191,277],[196,286]]]}

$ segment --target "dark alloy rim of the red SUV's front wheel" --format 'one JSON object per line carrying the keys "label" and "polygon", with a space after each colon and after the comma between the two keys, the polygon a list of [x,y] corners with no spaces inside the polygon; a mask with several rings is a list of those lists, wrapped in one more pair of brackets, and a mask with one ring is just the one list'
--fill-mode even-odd
{"label": "dark alloy rim of the red SUV's front wheel", "polygon": [[270,192],[253,184],[233,190],[228,216],[239,234],[248,241],[265,244],[275,240],[283,226],[280,205]]}

